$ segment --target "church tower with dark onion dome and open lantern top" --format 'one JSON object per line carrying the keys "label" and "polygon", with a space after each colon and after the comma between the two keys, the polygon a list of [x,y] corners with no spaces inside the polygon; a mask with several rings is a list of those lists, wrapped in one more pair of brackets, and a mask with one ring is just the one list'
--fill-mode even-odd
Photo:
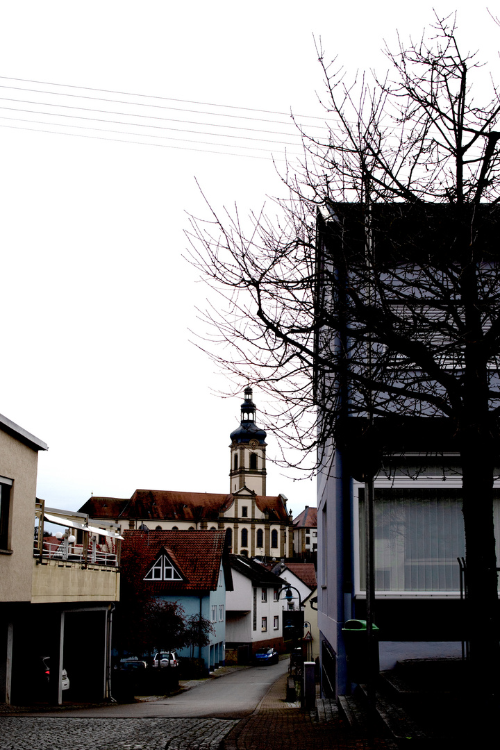
{"label": "church tower with dark onion dome and open lantern top", "polygon": [[255,413],[252,389],[248,386],[241,404],[240,426],[231,433],[230,493],[247,487],[256,495],[265,495],[266,435],[264,430],[257,427]]}

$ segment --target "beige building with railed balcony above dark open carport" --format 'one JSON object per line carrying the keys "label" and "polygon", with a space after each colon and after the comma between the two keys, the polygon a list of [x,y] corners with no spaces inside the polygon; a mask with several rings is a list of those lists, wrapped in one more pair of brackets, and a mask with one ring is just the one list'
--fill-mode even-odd
{"label": "beige building with railed balcony above dark open carport", "polygon": [[[112,610],[119,598],[119,529],[36,498],[45,443],[0,416],[0,701],[110,697]],[[61,529],[44,535],[44,522]],[[79,535],[77,539],[76,535]],[[103,551],[114,547],[113,552]],[[102,541],[103,544],[99,544]],[[92,655],[82,669],[82,652]],[[50,658],[49,682],[42,658]]]}

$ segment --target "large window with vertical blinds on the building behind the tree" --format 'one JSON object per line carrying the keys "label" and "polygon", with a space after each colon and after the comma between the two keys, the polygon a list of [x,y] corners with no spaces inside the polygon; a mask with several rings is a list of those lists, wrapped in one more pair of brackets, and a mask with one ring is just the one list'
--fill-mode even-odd
{"label": "large window with vertical blinds on the building behind the tree", "polygon": [[[376,487],[375,587],[379,592],[460,591],[465,535],[462,490],[456,487]],[[499,520],[500,495],[495,505]],[[364,591],[364,489],[359,489],[360,589]],[[496,523],[499,528],[499,523]],[[498,545],[498,541],[497,541]]]}

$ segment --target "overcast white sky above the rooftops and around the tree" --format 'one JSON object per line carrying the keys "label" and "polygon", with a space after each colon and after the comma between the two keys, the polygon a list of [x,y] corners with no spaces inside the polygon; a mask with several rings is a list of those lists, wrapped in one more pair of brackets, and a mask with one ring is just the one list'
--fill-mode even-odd
{"label": "overcast white sky above the rooftops and around the tree", "polygon": [[[349,74],[383,71],[383,40],[419,36],[433,7],[458,7],[463,46],[498,75],[500,28],[470,2],[0,2],[0,413],[48,443],[37,490],[48,505],[76,509],[91,493],[128,497],[137,487],[229,490],[241,398],[212,394],[226,383],[189,343],[206,291],[182,258],[186,211],[206,215],[195,177],[219,209],[258,209],[283,190],[265,152],[187,131],[213,132],[199,123],[217,117],[241,124],[229,118],[239,110],[206,103],[321,115],[313,34]],[[166,126],[144,119],[151,113],[179,130],[139,136],[132,123]],[[271,148],[283,157],[282,143]],[[271,434],[268,446],[272,458]],[[316,505],[315,490],[268,465],[268,493],[286,494],[294,515]]]}

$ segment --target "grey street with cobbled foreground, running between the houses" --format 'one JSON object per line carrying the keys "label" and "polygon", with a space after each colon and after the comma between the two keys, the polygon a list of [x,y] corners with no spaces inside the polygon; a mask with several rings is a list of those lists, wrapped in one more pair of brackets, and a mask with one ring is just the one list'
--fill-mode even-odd
{"label": "grey street with cobbled foreground, running between the houses", "polygon": [[208,679],[160,700],[0,718],[0,750],[215,750],[288,660]]}

